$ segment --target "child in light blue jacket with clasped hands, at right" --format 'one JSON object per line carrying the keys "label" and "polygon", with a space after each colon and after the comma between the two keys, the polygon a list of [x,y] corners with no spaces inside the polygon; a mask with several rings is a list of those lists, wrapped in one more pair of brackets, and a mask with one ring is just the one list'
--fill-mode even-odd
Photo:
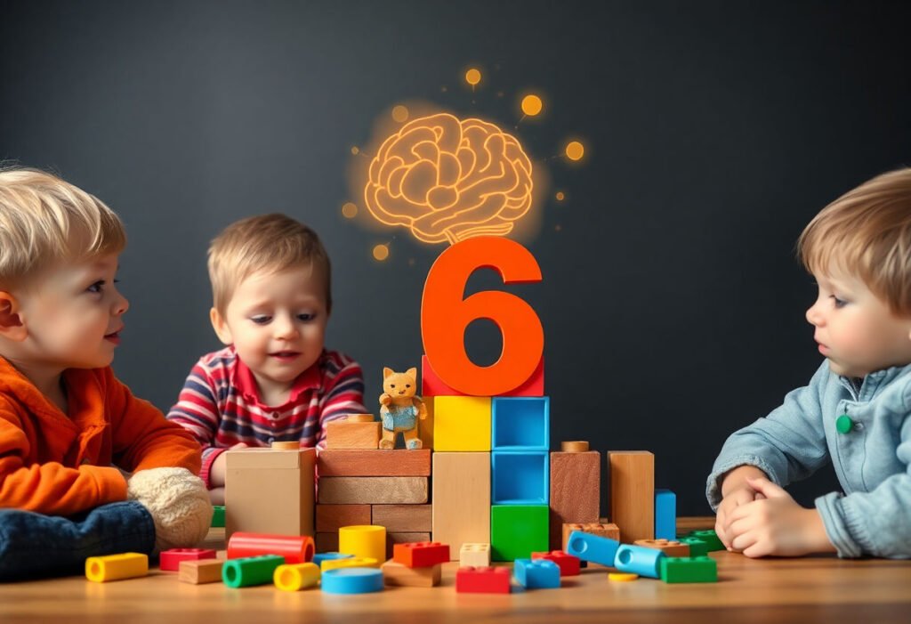
{"label": "child in light blue jacket with clasped hands, at right", "polygon": [[[748,557],[911,558],[911,169],[836,199],[798,248],[826,359],[724,443],[707,487],[715,530]],[[844,493],[807,509],[783,490],[829,462]]]}

